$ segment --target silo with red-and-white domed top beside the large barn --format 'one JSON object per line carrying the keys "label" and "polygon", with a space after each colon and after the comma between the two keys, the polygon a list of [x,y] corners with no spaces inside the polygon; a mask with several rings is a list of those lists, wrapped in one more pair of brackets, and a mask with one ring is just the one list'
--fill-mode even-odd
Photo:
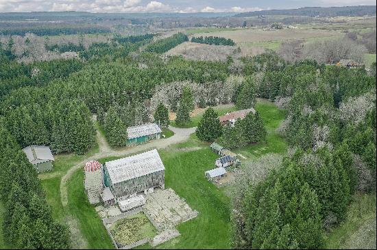
{"label": "silo with red-and-white domed top beside the large barn", "polygon": [[85,191],[90,204],[99,203],[99,195],[104,189],[102,178],[102,165],[98,161],[88,161],[84,167]]}

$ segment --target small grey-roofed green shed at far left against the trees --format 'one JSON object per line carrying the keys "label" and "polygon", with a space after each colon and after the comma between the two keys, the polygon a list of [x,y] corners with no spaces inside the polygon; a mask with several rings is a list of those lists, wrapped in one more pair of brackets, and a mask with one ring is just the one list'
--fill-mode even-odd
{"label": "small grey-roofed green shed at far left against the trees", "polygon": [[54,158],[49,147],[45,145],[29,145],[23,149],[23,152],[25,152],[29,163],[32,163],[38,172],[52,169]]}

